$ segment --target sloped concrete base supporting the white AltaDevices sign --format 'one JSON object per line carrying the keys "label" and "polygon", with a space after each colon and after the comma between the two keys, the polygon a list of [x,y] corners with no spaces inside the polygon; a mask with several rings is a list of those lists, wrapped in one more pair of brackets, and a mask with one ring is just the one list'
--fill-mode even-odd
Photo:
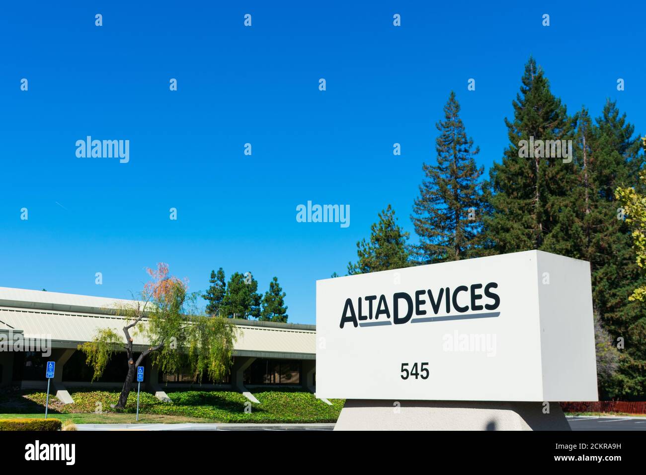
{"label": "sloped concrete base supporting the white AltaDevices sign", "polygon": [[570,430],[570,425],[559,403],[348,399],[334,430]]}

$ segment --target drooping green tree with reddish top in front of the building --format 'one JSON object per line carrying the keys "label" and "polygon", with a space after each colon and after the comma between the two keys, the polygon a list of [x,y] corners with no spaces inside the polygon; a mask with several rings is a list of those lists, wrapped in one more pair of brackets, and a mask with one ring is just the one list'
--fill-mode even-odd
{"label": "drooping green tree with reddish top in front of the building", "polygon": [[[128,401],[136,368],[147,357],[164,372],[176,372],[188,357],[196,381],[201,381],[203,374],[219,381],[231,367],[234,326],[224,318],[200,315],[196,311],[200,294],[189,294],[187,282],[169,275],[167,264],[146,270],[151,280],[143,286],[140,299],[110,309],[126,319],[127,324],[121,329],[123,336],[116,329],[107,328],[78,347],[94,370],[93,381],[101,377],[114,352],[125,350],[128,368],[115,406],[121,409]],[[147,342],[147,347],[140,351],[134,345],[137,335]]]}

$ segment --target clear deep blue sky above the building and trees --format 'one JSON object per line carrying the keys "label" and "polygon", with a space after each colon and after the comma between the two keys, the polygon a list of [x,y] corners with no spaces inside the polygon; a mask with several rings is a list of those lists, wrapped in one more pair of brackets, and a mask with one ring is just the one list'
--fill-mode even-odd
{"label": "clear deep blue sky above the building and trees", "polygon": [[[596,117],[611,98],[643,134],[643,10],[637,1],[6,3],[0,286],[129,297],[156,262],[191,290],[222,266],[227,277],[251,271],[263,292],[275,275],[289,321],[313,323],[315,281],[346,273],[382,208],[392,204],[413,231],[422,162],[435,160],[434,124],[452,89],[486,169],[501,160],[530,54],[568,111],[585,104]],[[129,163],[77,158],[88,135],[129,140]],[[307,200],[349,204],[350,226],[298,223]]]}

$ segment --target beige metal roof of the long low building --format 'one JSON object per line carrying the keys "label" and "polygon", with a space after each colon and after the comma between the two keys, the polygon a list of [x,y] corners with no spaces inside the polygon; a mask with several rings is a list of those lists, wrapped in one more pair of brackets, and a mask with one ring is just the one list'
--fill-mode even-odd
{"label": "beige metal roof of the long low building", "polygon": [[[111,328],[121,335],[126,320],[110,315],[109,309],[133,303],[136,301],[2,287],[0,329],[21,330],[25,338],[45,337],[52,340],[54,347],[74,348],[91,341],[99,329]],[[234,354],[314,358],[316,330],[313,325],[238,319],[233,322],[238,330]],[[149,343],[141,333],[131,332],[131,335],[135,345]]]}

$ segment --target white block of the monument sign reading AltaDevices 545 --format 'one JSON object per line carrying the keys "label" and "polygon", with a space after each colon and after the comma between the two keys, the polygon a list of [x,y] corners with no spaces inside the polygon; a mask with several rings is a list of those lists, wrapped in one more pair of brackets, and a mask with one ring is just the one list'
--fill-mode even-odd
{"label": "white block of the monument sign reading AltaDevices 545", "polygon": [[317,396],[596,401],[590,264],[525,251],[317,281]]}

